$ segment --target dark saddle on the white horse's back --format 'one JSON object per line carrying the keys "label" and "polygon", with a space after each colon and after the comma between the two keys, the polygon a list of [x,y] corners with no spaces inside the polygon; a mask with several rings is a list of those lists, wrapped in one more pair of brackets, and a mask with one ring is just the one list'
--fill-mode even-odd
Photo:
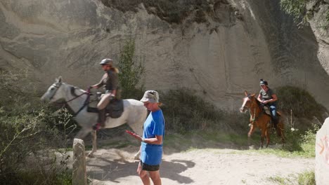
{"label": "dark saddle on the white horse's back", "polygon": [[[87,111],[98,113],[97,107],[88,106]],[[123,100],[112,99],[110,100],[110,104],[105,108],[106,116],[110,116],[111,118],[119,118],[123,111]]]}

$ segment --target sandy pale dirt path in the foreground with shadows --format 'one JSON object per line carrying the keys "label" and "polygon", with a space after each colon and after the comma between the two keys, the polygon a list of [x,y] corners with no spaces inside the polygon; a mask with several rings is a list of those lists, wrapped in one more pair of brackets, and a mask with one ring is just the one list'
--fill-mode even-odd
{"label": "sandy pale dirt path in the foreground with shadows", "polygon": [[[133,159],[136,146],[99,149],[87,158],[87,175],[92,184],[142,184]],[[276,184],[269,177],[289,177],[314,170],[315,160],[280,158],[257,153],[241,154],[233,149],[195,149],[164,155],[162,184]]]}

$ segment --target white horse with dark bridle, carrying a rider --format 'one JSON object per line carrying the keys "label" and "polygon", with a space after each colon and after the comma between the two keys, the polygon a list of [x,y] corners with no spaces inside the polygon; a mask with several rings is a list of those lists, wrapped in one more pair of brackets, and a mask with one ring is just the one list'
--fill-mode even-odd
{"label": "white horse with dark bridle, carrying a rider", "polygon": [[[74,89],[72,94],[72,89]],[[93,153],[96,152],[96,131],[92,129],[92,126],[96,124],[98,114],[91,113],[87,111],[88,106],[84,106],[88,94],[85,90],[76,88],[72,85],[62,82],[62,78],[56,78],[55,83],[53,83],[46,93],[42,95],[41,100],[48,101],[50,103],[58,102],[58,100],[65,100],[72,111],[75,112],[75,121],[82,127],[81,130],[77,133],[75,137],[83,139],[91,132],[93,148],[88,154],[89,157],[93,157]],[[143,133],[143,122],[146,120],[147,110],[144,107],[143,102],[138,100],[123,100],[124,102],[124,111],[120,118],[106,118],[105,128],[115,128],[117,126],[127,123],[134,132],[138,135]],[[135,155],[135,158],[139,156],[138,151]]]}

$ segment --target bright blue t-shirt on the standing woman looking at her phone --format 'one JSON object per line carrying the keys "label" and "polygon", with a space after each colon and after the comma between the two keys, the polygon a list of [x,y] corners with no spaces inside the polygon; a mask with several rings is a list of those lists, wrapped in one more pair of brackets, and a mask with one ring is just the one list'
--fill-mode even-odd
{"label": "bright blue t-shirt on the standing woman looking at her phone", "polygon": [[[143,138],[155,138],[155,135],[162,135],[164,139],[164,116],[159,109],[150,112],[144,122]],[[160,165],[162,160],[162,144],[141,143],[141,160],[148,165]]]}

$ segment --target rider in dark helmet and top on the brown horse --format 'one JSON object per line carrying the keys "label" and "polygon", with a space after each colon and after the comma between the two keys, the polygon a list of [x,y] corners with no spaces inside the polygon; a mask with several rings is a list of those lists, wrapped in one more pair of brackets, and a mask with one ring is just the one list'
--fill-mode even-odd
{"label": "rider in dark helmet and top on the brown horse", "polygon": [[278,116],[276,114],[276,102],[278,97],[276,96],[276,93],[269,88],[267,81],[260,79],[259,86],[261,87],[261,90],[259,91],[257,100],[261,102],[262,105],[269,107],[272,123],[274,124],[274,127],[276,127],[276,125],[278,125]]}

